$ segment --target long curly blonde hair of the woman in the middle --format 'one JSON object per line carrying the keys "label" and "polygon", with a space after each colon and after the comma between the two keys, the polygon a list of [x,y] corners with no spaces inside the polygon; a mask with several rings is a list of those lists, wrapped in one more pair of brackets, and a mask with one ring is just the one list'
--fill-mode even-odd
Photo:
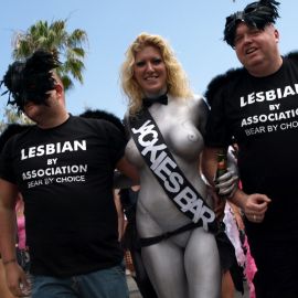
{"label": "long curly blonde hair of the woman in the middle", "polygon": [[128,97],[129,114],[137,114],[142,107],[145,96],[142,89],[134,75],[136,54],[146,46],[153,46],[161,53],[167,70],[168,93],[179,98],[191,98],[193,93],[190,89],[189,81],[181,64],[178,62],[169,43],[160,35],[141,33],[132,42],[126,52],[126,61],[121,65],[120,79],[124,93]]}

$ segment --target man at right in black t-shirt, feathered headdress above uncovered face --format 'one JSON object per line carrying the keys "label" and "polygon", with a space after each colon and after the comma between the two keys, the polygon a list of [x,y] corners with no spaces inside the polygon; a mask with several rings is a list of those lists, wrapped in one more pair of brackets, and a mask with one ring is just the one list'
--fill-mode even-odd
{"label": "man at right in black t-shirt, feathered headdress above uncovered face", "polygon": [[244,67],[206,92],[203,169],[211,181],[217,150],[236,141],[243,190],[231,200],[245,214],[257,298],[298,297],[298,55],[279,53],[278,4],[253,2],[226,18],[224,40]]}

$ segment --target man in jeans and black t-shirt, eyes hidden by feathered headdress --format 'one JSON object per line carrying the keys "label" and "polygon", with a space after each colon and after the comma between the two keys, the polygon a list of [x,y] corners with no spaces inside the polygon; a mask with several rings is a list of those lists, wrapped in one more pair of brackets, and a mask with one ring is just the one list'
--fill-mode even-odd
{"label": "man in jeans and black t-shirt, eyes hidden by feathered headdress", "polygon": [[14,204],[24,199],[32,298],[127,298],[113,177],[137,180],[115,125],[71,116],[53,54],[36,51],[10,65],[2,83],[36,125],[12,137],[0,157],[0,248],[8,286],[30,290],[17,263]]}

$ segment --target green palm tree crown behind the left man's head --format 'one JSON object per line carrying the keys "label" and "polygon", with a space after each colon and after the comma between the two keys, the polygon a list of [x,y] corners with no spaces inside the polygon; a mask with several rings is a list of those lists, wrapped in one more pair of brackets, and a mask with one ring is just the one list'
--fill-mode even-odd
{"label": "green palm tree crown behind the left man's head", "polygon": [[83,60],[86,54],[84,45],[87,42],[87,34],[81,29],[68,33],[66,22],[67,19],[50,24],[47,21],[38,21],[24,33],[19,32],[14,38],[12,55],[14,58],[26,58],[38,49],[55,53],[62,62],[57,73],[67,91],[74,85],[72,77],[83,84],[82,73],[85,68]]}

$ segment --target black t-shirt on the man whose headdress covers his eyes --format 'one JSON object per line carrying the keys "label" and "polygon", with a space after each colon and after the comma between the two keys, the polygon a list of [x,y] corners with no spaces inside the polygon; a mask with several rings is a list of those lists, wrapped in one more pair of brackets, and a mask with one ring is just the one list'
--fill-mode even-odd
{"label": "black t-shirt on the man whose headdress covers his eyes", "polygon": [[113,124],[73,116],[8,141],[0,177],[24,198],[31,273],[71,276],[121,260],[113,175],[125,145]]}

